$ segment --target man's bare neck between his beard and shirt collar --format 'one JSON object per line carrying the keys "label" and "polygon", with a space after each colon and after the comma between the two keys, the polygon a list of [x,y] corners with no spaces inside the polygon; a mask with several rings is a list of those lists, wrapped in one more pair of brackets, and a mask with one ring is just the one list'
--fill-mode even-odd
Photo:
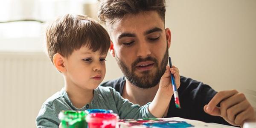
{"label": "man's bare neck between his beard and shirt collar", "polygon": [[125,81],[126,82],[123,88],[122,97],[140,106],[151,102],[154,99],[154,96],[156,95],[159,87],[159,84],[157,84],[154,87],[143,89],[131,84],[128,79],[125,79]]}

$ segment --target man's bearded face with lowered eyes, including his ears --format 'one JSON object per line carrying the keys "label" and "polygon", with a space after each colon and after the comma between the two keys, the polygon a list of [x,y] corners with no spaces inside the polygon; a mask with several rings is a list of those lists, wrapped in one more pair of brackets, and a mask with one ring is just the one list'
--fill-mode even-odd
{"label": "man's bearded face with lowered eyes, including his ears", "polygon": [[155,11],[126,15],[110,27],[112,55],[135,86],[154,87],[168,62],[171,33]]}

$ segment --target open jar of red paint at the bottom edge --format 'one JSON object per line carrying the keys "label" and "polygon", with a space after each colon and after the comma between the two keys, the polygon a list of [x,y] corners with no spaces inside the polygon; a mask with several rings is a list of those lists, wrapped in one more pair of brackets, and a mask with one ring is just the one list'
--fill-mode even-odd
{"label": "open jar of red paint at the bottom edge", "polygon": [[115,113],[90,113],[86,116],[88,128],[116,128],[118,119]]}

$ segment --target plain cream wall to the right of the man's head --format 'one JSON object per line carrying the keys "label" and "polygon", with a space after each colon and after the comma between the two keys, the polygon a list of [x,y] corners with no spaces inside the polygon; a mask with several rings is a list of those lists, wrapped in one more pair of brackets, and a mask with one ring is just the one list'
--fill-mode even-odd
{"label": "plain cream wall to the right of the man's head", "polygon": [[166,27],[181,75],[256,106],[256,0],[167,0]]}

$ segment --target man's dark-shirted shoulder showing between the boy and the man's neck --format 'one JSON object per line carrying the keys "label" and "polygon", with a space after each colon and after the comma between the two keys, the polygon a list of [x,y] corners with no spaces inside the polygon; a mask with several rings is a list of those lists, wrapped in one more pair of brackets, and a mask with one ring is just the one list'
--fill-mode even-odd
{"label": "man's dark-shirted shoulder showing between the boy and the man's neck", "polygon": [[113,87],[116,91],[122,93],[123,86],[125,85],[125,77],[122,76],[117,79],[106,81],[100,85],[104,87]]}

